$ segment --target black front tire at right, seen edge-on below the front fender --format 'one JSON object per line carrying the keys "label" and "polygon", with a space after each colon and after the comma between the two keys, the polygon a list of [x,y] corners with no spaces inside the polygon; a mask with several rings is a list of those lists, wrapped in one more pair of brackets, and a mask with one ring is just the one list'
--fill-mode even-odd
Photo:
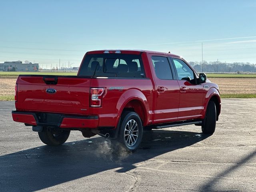
{"label": "black front tire at right, seen edge-on below the front fender", "polygon": [[216,106],[213,101],[209,101],[206,115],[202,122],[202,132],[204,134],[213,134],[216,127]]}

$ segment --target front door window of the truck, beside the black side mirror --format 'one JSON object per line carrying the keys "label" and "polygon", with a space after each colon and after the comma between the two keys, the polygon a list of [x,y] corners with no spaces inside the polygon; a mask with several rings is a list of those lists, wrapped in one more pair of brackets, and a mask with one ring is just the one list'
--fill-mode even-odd
{"label": "front door window of the truck, beside the black side mirror", "polygon": [[188,80],[188,77],[190,80],[194,80],[194,72],[184,61],[177,58],[172,59],[177,70],[179,80]]}

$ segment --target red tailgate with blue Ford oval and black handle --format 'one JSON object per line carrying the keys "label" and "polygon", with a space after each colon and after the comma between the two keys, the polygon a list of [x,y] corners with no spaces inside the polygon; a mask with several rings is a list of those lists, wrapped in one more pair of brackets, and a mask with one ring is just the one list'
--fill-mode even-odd
{"label": "red tailgate with blue Ford oval and black handle", "polygon": [[88,114],[90,82],[77,76],[20,75],[16,109]]}

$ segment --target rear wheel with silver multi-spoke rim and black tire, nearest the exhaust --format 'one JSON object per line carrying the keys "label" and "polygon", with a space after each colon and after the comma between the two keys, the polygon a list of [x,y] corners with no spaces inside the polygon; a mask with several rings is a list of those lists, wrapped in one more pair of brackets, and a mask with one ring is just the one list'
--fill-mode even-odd
{"label": "rear wheel with silver multi-spoke rim and black tire, nearest the exhaust", "polygon": [[[128,131],[129,130],[129,131]],[[120,127],[118,131],[119,144],[127,151],[135,151],[141,143],[143,133],[143,126],[140,119],[135,112],[125,111],[120,119]],[[115,144],[116,142],[114,142]]]}

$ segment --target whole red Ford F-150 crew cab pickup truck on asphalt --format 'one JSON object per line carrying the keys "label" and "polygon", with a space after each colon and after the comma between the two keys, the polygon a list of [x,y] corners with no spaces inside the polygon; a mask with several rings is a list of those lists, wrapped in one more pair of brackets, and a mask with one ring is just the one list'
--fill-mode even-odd
{"label": "whole red Ford F-150 crew cab pickup truck on asphalt", "polygon": [[133,151],[143,129],[195,124],[213,134],[221,101],[218,85],[180,56],[99,50],[85,54],[77,76],[20,75],[15,106],[13,120],[32,126],[45,144],[63,144],[79,130]]}

